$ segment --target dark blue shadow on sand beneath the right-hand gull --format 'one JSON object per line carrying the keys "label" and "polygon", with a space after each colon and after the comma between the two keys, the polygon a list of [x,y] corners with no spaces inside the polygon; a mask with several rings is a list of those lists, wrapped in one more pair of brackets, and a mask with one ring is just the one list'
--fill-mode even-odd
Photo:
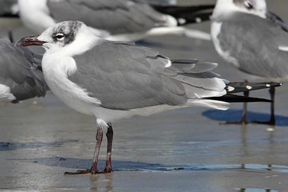
{"label": "dark blue shadow on sand beneath the right-hand gull", "polygon": [[[238,122],[241,121],[242,110],[206,110],[202,113],[204,117],[215,121],[225,122]],[[269,121],[270,115],[261,112],[249,112],[247,113],[248,122],[251,121]],[[288,117],[275,115],[277,126],[288,126]]]}

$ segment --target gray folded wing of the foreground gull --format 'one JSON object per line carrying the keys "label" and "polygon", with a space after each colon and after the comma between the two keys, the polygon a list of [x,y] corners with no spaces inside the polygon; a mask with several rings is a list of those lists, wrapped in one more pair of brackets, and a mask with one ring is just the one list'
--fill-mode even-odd
{"label": "gray folded wing of the foreground gull", "polygon": [[226,86],[210,72],[216,64],[170,61],[157,51],[132,44],[104,41],[74,59],[77,71],[69,80],[99,99],[104,108],[183,105],[190,98],[224,95]]}

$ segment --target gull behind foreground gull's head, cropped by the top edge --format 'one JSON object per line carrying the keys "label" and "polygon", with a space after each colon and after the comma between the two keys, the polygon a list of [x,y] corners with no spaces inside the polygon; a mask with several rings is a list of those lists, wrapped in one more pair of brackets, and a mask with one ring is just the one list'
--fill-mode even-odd
{"label": "gull behind foreground gull's head, cropped by the top edge", "polygon": [[[36,33],[60,21],[79,20],[91,27],[96,36],[108,40],[135,41],[163,34],[211,39],[206,32],[182,27],[195,23],[197,14],[193,14],[193,6],[190,11],[173,9],[171,14],[176,16],[177,11],[183,12],[180,18],[162,14],[139,0],[19,0],[19,9],[24,25]],[[206,9],[206,6],[199,9]]]}

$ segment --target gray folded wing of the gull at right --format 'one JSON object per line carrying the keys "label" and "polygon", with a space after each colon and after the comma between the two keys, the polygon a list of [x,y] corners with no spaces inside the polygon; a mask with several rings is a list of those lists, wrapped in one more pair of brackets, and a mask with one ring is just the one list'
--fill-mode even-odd
{"label": "gray folded wing of the gull at right", "polygon": [[236,58],[241,71],[261,77],[288,76],[288,33],[277,23],[242,13],[219,22],[221,49]]}

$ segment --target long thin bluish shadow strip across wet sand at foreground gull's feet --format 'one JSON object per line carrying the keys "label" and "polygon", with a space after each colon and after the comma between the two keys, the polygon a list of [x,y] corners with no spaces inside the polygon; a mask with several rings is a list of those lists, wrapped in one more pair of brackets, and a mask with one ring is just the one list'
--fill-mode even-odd
{"label": "long thin bluish shadow strip across wet sand at foreground gull's feet", "polygon": [[[64,157],[47,157],[33,159],[9,159],[17,160],[19,163],[36,163],[50,167],[62,167],[69,169],[88,169],[91,167],[93,160],[80,158],[64,158]],[[99,160],[99,169],[104,169],[106,160]],[[142,163],[133,161],[113,160],[114,171],[279,171],[288,173],[288,166],[285,165],[161,165],[154,163]]]}

